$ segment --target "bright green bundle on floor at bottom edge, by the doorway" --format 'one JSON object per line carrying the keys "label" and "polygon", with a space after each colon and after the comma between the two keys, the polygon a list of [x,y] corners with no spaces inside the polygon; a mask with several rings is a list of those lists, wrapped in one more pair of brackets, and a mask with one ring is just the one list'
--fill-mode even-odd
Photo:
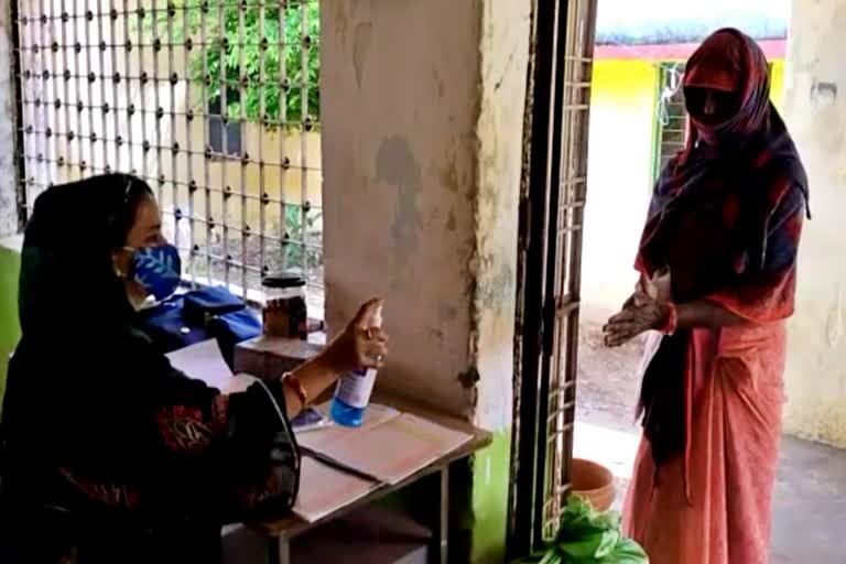
{"label": "bright green bundle on floor at bottom edge, by the doorway", "polygon": [[596,511],[579,496],[571,496],[555,540],[514,564],[649,564],[643,549],[620,532],[620,516]]}

